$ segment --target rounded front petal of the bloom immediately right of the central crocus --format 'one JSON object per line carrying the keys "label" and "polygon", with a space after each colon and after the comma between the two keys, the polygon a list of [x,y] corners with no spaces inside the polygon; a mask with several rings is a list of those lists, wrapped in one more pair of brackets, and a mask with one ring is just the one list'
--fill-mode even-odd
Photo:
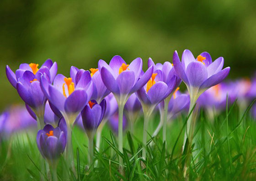
{"label": "rounded front petal of the bloom immediately right of the central crocus", "polygon": [[165,98],[168,86],[164,82],[155,83],[148,92],[151,104],[158,104]]}

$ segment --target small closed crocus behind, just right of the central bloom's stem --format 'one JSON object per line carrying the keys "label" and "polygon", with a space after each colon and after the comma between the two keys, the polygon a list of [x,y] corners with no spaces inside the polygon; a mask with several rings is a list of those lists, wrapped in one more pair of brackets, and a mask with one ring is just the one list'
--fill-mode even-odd
{"label": "small closed crocus behind, just right of the central bloom's stem", "polygon": [[124,112],[126,117],[128,118],[128,122],[130,124],[131,132],[133,133],[133,125],[135,121],[138,119],[139,114],[141,112],[141,103],[137,98],[136,94],[133,93],[127,100],[124,106]]}

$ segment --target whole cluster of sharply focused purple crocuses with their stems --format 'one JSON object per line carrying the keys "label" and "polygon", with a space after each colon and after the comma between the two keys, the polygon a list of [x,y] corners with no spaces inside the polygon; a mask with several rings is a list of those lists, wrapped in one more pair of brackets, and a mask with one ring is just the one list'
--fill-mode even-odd
{"label": "whole cluster of sharply focused purple crocuses with their stems", "polygon": [[[34,63],[21,64],[15,73],[6,66],[6,75],[26,103],[29,114],[40,123],[37,145],[43,157],[50,165],[56,165],[64,153],[70,168],[74,123],[82,126],[89,138],[88,160],[92,165],[94,136],[97,133],[99,149],[101,130],[107,120],[113,132],[118,133],[118,150],[123,153],[123,129],[129,122],[133,130],[141,110],[144,114],[142,157],[146,159],[147,127],[155,108],[159,105],[161,120],[154,136],[163,127],[163,141],[166,141],[167,121],[186,109],[189,102],[191,111],[205,90],[224,80],[230,68],[222,70],[223,64],[222,57],[212,62],[210,55],[203,52],[195,59],[185,50],[181,62],[174,52],[173,64],[155,64],[149,58],[145,72],[141,58],[128,64],[122,57],[114,56],[109,64],[99,60],[98,67],[88,71],[72,66],[69,77],[57,74],[57,63],[51,60],[41,67]],[[178,92],[181,80],[187,85],[189,95]],[[190,124],[191,119],[187,122],[187,132]],[[123,168],[121,157],[119,162]]]}

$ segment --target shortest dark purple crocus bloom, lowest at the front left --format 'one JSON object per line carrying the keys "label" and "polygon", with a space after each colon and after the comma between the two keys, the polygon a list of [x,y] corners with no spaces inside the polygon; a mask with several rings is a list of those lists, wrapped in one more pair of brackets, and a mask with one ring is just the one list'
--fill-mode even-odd
{"label": "shortest dark purple crocus bloom, lowest at the front left", "polygon": [[[62,117],[60,124],[65,124]],[[61,123],[63,122],[63,123]],[[53,128],[52,125],[46,124],[42,130],[37,132],[37,147],[43,158],[49,165],[56,165],[60,155],[64,152],[66,146],[66,129],[61,127]]]}

